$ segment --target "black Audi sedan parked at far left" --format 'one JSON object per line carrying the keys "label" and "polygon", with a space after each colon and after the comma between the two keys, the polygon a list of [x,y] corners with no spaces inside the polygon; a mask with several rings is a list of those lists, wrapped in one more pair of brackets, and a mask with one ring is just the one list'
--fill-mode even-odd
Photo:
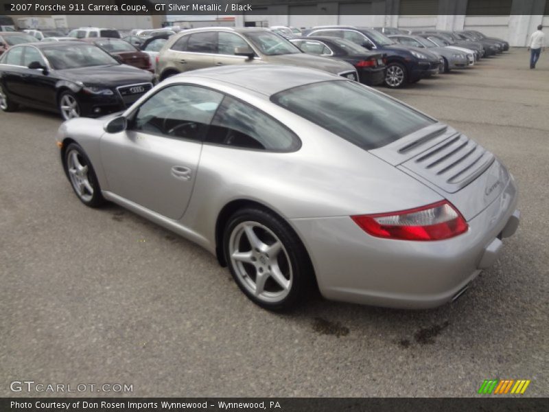
{"label": "black Audi sedan parked at far left", "polygon": [[63,119],[120,111],[152,88],[154,75],[121,65],[95,45],[16,45],[0,58],[0,108],[19,104],[56,111]]}

